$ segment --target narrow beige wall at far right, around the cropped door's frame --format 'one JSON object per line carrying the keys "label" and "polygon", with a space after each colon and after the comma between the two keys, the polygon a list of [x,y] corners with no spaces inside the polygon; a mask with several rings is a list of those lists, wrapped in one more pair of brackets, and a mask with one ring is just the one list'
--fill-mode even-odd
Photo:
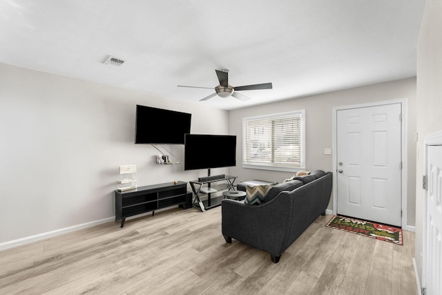
{"label": "narrow beige wall at far right, around the cropped door's frame", "polygon": [[427,0],[417,47],[416,267],[422,281],[423,139],[442,130],[442,2]]}

